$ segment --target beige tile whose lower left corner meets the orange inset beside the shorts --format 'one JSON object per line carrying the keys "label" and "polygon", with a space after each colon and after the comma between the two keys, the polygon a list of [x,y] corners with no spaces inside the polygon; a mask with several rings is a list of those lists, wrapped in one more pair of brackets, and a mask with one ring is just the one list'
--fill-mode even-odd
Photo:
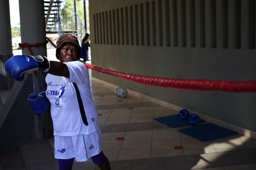
{"label": "beige tile whose lower left corner meets the orange inset beside the shorts", "polygon": [[124,140],[152,139],[152,130],[126,132]]}

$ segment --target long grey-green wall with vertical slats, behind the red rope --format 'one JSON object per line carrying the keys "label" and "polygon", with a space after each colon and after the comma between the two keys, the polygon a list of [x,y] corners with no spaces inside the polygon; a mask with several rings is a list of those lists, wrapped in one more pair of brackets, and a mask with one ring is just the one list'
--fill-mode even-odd
{"label": "long grey-green wall with vertical slats, behind the red rope", "polygon": [[[256,79],[255,1],[93,0],[89,7],[93,65],[143,76]],[[166,89],[95,71],[92,76],[256,131],[256,93]]]}

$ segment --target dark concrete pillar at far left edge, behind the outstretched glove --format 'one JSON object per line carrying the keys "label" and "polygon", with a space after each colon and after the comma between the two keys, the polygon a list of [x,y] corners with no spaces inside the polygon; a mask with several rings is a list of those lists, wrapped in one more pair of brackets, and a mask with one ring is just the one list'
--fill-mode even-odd
{"label": "dark concrete pillar at far left edge, behind the outstretched glove", "polygon": [[10,90],[13,79],[4,64],[12,56],[9,1],[0,0],[0,90]]}

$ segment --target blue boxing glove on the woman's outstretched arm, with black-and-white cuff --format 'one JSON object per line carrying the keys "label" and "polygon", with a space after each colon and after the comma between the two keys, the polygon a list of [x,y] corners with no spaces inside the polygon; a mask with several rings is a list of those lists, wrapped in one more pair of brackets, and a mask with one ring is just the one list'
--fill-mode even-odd
{"label": "blue boxing glove on the woman's outstretched arm, with black-and-white cuff", "polygon": [[18,81],[24,79],[24,71],[44,71],[47,72],[50,68],[50,61],[42,56],[13,56],[5,63],[5,69],[11,76]]}

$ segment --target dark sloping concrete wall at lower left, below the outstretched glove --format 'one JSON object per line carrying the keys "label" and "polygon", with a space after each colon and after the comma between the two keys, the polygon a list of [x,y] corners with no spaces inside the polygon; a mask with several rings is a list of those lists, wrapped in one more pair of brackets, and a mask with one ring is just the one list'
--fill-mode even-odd
{"label": "dark sloping concrete wall at lower left, below the outstretched glove", "polygon": [[29,94],[33,93],[32,80],[30,74],[23,81],[15,81],[0,110],[0,154],[16,150],[20,144],[36,140],[35,114],[26,102]]}

